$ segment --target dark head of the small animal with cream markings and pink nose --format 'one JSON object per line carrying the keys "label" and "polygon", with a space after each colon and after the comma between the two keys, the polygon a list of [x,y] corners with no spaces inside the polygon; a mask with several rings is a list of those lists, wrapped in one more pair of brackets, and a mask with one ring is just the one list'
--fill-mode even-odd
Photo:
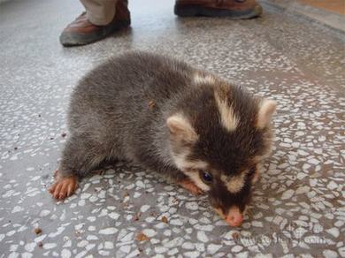
{"label": "dark head of the small animal with cream markings and pink nose", "polygon": [[211,76],[195,86],[166,120],[173,161],[227,224],[238,226],[271,151],[276,102]]}

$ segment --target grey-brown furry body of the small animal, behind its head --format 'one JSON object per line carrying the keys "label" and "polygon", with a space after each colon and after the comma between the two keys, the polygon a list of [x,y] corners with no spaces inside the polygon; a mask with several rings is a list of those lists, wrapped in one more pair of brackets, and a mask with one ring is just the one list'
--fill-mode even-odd
{"label": "grey-brown furry body of the small animal, behind its head", "polygon": [[59,171],[83,177],[103,160],[126,159],[184,178],[170,158],[165,121],[188,92],[192,72],[184,63],[148,53],[111,58],[89,72],[71,97],[71,137]]}

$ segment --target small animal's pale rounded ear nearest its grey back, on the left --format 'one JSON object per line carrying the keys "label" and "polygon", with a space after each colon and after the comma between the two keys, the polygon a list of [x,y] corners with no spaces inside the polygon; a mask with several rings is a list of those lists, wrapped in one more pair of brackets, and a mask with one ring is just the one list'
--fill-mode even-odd
{"label": "small animal's pale rounded ear nearest its grey back, on the left", "polygon": [[188,119],[181,114],[176,114],[167,118],[166,125],[168,125],[170,134],[175,139],[195,142],[198,138],[193,126],[190,125]]}

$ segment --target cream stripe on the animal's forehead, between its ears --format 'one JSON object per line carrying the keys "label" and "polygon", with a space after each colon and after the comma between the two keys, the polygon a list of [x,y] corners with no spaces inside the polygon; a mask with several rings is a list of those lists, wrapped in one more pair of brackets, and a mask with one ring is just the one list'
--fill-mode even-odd
{"label": "cream stripe on the animal's forehead, between its ears", "polygon": [[222,100],[217,93],[215,93],[214,97],[219,109],[221,124],[228,131],[234,131],[238,125],[238,119],[234,115],[234,109],[227,104],[226,100]]}

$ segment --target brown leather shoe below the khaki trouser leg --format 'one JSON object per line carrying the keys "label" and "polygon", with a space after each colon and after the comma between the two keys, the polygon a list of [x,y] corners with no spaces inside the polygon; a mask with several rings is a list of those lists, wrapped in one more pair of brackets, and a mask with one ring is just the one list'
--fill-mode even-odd
{"label": "brown leather shoe below the khaki trouser leg", "polygon": [[86,45],[99,41],[121,28],[128,27],[131,24],[131,18],[127,4],[127,1],[120,0],[117,2],[115,17],[106,26],[92,24],[84,11],[77,19],[65,27],[60,35],[61,44],[64,47]]}

